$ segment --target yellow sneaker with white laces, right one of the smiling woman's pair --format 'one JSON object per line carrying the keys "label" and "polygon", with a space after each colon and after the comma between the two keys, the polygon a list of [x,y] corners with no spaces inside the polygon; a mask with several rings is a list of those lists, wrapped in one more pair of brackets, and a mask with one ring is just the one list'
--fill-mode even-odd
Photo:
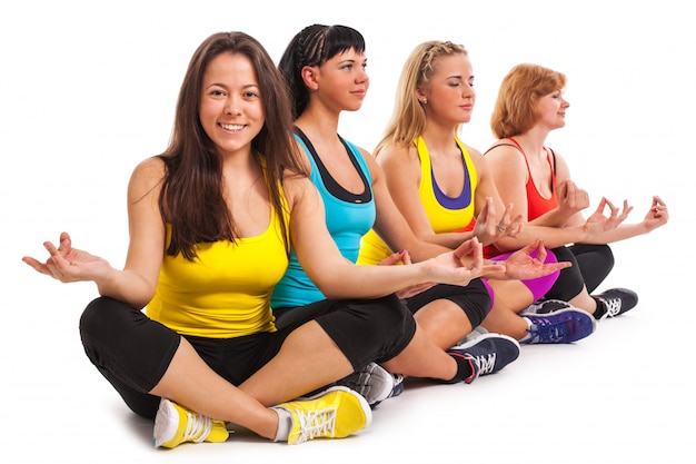
{"label": "yellow sneaker with white laces, right one of the smiling woman's pair", "polygon": [[306,399],[279,404],[292,416],[288,444],[314,438],[342,438],[367,427],[372,411],[367,401],[344,386],[334,386]]}

